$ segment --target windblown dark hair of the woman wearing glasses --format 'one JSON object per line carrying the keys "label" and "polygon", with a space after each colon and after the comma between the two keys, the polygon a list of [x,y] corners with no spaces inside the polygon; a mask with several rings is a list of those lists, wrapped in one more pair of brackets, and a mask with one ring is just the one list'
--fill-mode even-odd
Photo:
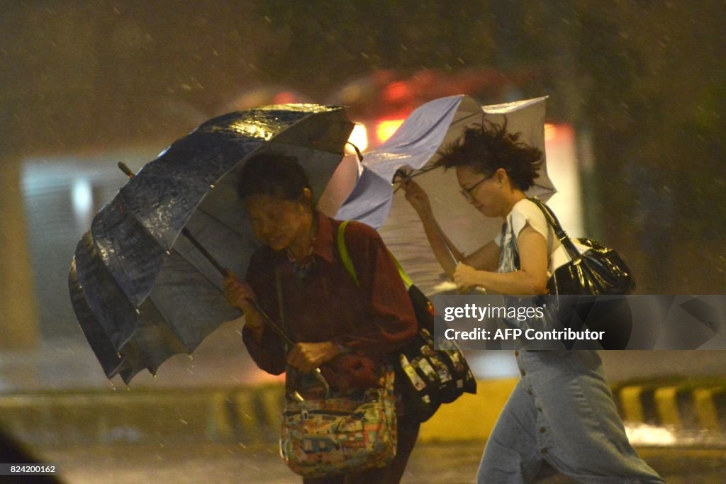
{"label": "windblown dark hair of the woman wearing glasses", "polygon": [[503,125],[492,122],[468,126],[464,134],[438,153],[436,166],[445,169],[468,166],[478,173],[492,175],[504,168],[515,188],[522,191],[534,185],[542,165],[542,151],[519,141],[521,133],[507,133],[507,120]]}

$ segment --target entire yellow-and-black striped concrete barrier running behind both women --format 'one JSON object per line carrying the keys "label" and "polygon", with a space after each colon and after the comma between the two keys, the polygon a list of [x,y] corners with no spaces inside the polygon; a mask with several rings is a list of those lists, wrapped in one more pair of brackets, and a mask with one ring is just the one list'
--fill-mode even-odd
{"label": "entire yellow-and-black striped concrete barrier running behind both women", "polygon": [[[477,395],[439,409],[421,442],[481,440],[494,427],[516,379],[482,380]],[[211,441],[274,443],[283,386],[114,390],[0,396],[0,427],[31,446]],[[627,424],[726,435],[726,380],[628,383],[613,387]]]}

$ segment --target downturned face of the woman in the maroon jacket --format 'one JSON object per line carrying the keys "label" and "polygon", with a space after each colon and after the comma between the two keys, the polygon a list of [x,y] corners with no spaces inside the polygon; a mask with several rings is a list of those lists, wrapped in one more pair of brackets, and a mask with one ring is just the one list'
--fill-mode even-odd
{"label": "downturned face of the woman in the maroon jacket", "polygon": [[244,203],[256,237],[272,250],[287,249],[307,236],[310,216],[301,202],[258,194]]}

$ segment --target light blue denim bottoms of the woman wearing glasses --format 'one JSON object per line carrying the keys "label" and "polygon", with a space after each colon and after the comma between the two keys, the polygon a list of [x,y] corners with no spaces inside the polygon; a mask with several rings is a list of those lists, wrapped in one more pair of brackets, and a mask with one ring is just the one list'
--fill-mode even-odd
{"label": "light blue denim bottoms of the woman wearing glasses", "polygon": [[486,442],[477,482],[664,483],[630,445],[591,350],[516,351],[521,380]]}

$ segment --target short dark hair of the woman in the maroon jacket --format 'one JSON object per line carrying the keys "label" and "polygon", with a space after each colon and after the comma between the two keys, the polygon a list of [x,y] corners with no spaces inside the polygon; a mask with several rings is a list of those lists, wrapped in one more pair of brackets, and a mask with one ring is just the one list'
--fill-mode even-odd
{"label": "short dark hair of the woman in the maroon jacket", "polygon": [[245,161],[237,179],[237,195],[267,195],[285,200],[299,200],[310,181],[294,156],[264,151]]}

